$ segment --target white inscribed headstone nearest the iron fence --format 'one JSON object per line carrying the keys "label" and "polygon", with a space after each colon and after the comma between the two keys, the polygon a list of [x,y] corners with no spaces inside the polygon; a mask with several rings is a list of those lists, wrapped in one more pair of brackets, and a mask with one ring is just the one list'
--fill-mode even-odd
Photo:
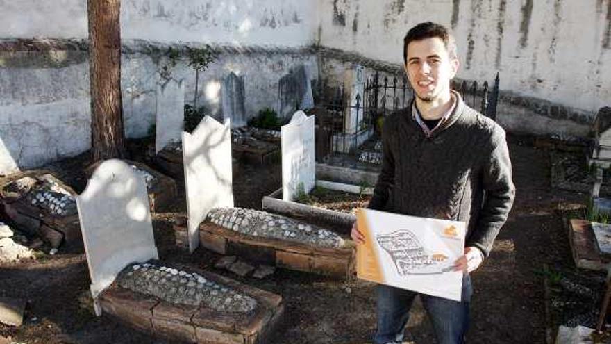
{"label": "white inscribed headstone nearest the iron fence", "polygon": [[291,122],[281,127],[282,199],[292,201],[299,184],[310,193],[316,182],[314,116],[294,113]]}

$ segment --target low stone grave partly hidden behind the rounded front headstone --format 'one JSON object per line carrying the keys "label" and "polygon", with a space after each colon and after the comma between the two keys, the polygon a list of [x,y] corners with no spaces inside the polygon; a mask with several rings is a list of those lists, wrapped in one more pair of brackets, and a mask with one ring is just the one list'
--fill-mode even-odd
{"label": "low stone grave partly hidden behind the rounded front headstone", "polygon": [[[137,175],[144,179],[147,184],[147,193],[149,195],[149,206],[151,211],[160,211],[161,208],[167,207],[173,203],[178,195],[176,189],[176,181],[170,177],[162,174],[144,163],[138,161],[124,160],[125,163],[131,166],[131,168],[137,173]],[[101,162],[95,163],[85,169],[88,176],[101,164]]]}

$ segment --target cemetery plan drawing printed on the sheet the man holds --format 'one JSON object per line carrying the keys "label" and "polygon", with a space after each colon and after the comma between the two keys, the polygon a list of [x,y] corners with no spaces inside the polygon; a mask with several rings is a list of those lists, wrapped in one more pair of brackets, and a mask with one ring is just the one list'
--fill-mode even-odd
{"label": "cemetery plan drawing printed on the sheet the man holds", "polygon": [[399,276],[435,275],[451,271],[443,253],[427,254],[418,238],[408,229],[376,235],[378,245],[390,255]]}

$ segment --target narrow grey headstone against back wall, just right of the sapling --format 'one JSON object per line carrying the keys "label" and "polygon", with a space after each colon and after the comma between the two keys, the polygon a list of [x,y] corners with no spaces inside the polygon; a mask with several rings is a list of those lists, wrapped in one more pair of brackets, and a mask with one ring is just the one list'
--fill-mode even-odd
{"label": "narrow grey headstone against back wall, just right of the sapling", "polygon": [[246,110],[244,108],[244,75],[229,73],[223,79],[221,86],[223,118],[230,119],[233,126],[246,125]]}

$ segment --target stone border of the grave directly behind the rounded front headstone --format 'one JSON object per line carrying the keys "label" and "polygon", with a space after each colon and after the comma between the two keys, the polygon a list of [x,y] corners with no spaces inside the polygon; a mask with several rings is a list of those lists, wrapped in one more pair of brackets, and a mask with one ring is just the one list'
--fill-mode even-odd
{"label": "stone border of the grave directly behind the rounded front headstone", "polygon": [[[149,206],[151,212],[155,213],[159,208],[163,208],[168,204],[171,204],[178,197],[178,190],[176,188],[176,181],[173,178],[162,174],[157,170],[153,170],[149,165],[140,163],[139,161],[131,161],[122,159],[122,161],[128,165],[135,165],[140,170],[144,170],[156,178],[157,182],[153,185],[153,188],[149,190],[147,186],[147,194],[149,195]],[[90,178],[92,173],[101,165],[103,161],[98,161],[93,165],[88,166],[85,169],[87,177]]]}

